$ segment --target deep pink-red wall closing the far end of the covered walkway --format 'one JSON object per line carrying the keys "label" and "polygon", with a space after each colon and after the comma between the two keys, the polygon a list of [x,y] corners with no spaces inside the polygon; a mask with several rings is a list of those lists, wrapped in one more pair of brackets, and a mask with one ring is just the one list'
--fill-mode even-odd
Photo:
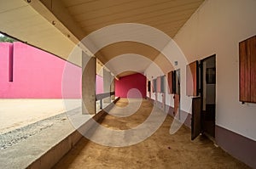
{"label": "deep pink-red wall closing the far end of the covered walkway", "polygon": [[140,73],[115,80],[115,96],[120,98],[146,98],[146,76]]}

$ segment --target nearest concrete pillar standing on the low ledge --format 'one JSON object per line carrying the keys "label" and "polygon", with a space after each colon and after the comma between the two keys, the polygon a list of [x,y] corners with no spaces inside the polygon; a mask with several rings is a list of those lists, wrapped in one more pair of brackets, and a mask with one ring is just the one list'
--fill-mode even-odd
{"label": "nearest concrete pillar standing on the low ledge", "polygon": [[82,54],[82,114],[96,113],[96,58]]}

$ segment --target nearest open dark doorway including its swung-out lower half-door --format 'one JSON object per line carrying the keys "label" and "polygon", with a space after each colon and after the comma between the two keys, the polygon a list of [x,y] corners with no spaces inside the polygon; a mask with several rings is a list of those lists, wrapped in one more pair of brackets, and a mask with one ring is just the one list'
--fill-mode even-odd
{"label": "nearest open dark doorway including its swung-out lower half-door", "polygon": [[[199,95],[192,98],[191,139],[200,133],[215,138],[216,114],[216,55],[201,59],[196,65]],[[196,78],[197,79],[197,78]]]}

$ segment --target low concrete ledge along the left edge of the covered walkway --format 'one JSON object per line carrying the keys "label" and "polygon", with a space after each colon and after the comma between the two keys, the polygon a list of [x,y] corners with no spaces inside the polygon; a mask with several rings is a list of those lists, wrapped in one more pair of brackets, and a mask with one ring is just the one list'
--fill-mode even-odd
{"label": "low concrete ledge along the left edge of the covered walkway", "polygon": [[[118,99],[109,104],[105,109],[111,109]],[[71,110],[78,113],[81,108]],[[104,110],[93,116],[99,121],[106,115]],[[80,129],[86,132],[94,124],[92,119],[84,122]],[[32,168],[45,169],[55,166],[67,152],[82,138],[82,134],[76,130],[67,118],[51,127],[38,132],[32,137],[14,144],[12,147],[0,150],[0,166],[4,168]]]}

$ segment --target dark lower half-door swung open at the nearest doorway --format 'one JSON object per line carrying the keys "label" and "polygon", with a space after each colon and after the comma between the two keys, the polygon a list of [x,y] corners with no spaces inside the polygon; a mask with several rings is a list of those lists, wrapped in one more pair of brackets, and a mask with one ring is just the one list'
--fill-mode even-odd
{"label": "dark lower half-door swung open at the nearest doorway", "polygon": [[192,99],[191,139],[201,133],[201,98]]}

